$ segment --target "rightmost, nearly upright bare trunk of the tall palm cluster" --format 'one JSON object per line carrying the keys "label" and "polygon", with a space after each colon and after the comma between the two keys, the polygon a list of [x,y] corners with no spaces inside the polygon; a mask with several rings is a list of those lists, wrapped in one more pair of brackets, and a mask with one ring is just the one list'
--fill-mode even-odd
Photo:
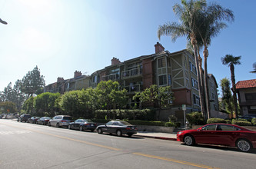
{"label": "rightmost, nearly upright bare trunk of the tall palm cluster", "polygon": [[210,118],[210,97],[209,97],[209,85],[208,85],[208,71],[207,71],[207,58],[208,58],[208,48],[204,46],[204,94],[205,94],[205,104],[208,119]]}

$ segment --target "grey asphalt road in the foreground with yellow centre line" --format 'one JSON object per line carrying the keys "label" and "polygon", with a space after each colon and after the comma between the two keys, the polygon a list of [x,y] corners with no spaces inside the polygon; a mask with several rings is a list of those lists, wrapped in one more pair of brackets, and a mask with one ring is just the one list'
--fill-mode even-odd
{"label": "grey asphalt road in the foreground with yellow centre line", "polygon": [[0,168],[255,168],[256,152],[0,119]]}

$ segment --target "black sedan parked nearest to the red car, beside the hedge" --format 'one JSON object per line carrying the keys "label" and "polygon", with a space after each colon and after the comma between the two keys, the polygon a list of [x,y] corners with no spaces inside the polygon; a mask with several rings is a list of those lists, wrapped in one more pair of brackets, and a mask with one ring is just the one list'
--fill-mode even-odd
{"label": "black sedan parked nearest to the red car, beside the hedge", "polygon": [[117,134],[121,136],[122,134],[127,134],[128,137],[131,137],[132,134],[137,133],[137,128],[135,125],[129,124],[126,121],[108,121],[105,125],[99,125],[96,130],[98,134],[110,133]]}

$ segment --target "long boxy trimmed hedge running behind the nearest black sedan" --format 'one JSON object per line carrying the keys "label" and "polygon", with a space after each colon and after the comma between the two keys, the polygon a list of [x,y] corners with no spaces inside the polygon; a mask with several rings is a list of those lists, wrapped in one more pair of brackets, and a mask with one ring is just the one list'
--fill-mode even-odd
{"label": "long boxy trimmed hedge running behind the nearest black sedan", "polygon": [[95,119],[132,119],[141,121],[153,121],[155,111],[151,109],[135,110],[96,110]]}

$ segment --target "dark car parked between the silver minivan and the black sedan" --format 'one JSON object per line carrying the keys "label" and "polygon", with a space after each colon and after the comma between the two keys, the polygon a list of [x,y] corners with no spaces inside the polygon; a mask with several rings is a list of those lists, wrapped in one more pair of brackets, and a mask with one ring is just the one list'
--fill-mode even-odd
{"label": "dark car parked between the silver minivan and the black sedan", "polygon": [[89,119],[78,119],[68,124],[69,129],[76,129],[80,131],[90,130],[92,132],[95,131],[96,127],[96,123],[92,122]]}

